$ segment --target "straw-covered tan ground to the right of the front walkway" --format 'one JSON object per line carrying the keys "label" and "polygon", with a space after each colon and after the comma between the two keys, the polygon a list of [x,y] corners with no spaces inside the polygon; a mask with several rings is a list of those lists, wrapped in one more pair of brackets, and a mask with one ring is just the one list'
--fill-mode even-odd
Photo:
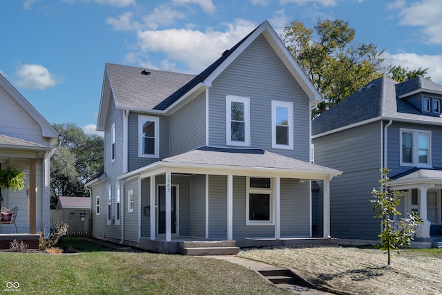
{"label": "straw-covered tan ground to the right of the front walkway", "polygon": [[442,259],[403,251],[387,267],[387,254],[377,249],[305,247],[251,249],[239,256],[286,267],[309,280],[353,294],[441,294]]}

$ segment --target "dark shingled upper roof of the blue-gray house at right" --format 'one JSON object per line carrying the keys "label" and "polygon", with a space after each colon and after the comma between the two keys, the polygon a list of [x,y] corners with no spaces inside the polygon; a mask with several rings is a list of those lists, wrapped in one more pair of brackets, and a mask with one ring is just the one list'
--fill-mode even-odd
{"label": "dark shingled upper roof of the blue-gray house at right", "polygon": [[442,94],[442,86],[422,77],[403,83],[379,77],[316,117],[311,134],[315,137],[376,120],[441,124],[441,117],[425,114],[404,99],[421,91]]}

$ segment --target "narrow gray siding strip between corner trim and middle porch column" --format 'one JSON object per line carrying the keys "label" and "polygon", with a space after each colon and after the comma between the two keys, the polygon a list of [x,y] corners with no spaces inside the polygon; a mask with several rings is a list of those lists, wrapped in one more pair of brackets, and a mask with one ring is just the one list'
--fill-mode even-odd
{"label": "narrow gray siding strip between corner trim and middle porch column", "polygon": [[209,238],[227,238],[227,176],[209,175]]}

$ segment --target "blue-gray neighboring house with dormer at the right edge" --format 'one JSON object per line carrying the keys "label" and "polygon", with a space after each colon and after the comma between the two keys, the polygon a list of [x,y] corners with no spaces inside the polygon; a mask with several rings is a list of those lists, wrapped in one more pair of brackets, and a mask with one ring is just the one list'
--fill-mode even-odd
{"label": "blue-gray neighboring house with dormer at the right edge", "polygon": [[[442,225],[442,86],[422,77],[369,82],[313,120],[316,164],[343,171],[330,184],[332,236],[377,240],[380,222],[369,199],[379,169],[403,191],[398,210],[425,220],[416,242],[429,247]],[[402,216],[396,216],[399,220]]]}

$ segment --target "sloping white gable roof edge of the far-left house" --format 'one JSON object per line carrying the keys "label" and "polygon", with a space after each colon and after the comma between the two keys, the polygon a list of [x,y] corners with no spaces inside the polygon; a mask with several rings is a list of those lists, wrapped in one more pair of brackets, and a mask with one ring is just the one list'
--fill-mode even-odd
{"label": "sloping white gable roof edge of the far-left house", "polygon": [[[41,128],[41,136],[42,137],[52,137],[55,138],[55,140],[58,140],[59,133],[46,121],[46,119],[40,115],[40,113],[26,100],[23,95],[15,89],[8,80],[3,77],[0,73],[0,87],[5,89],[5,91],[12,97],[12,99],[15,99],[17,104],[23,108],[26,113],[32,117],[37,124],[39,124]],[[55,144],[55,143],[54,143]]]}

